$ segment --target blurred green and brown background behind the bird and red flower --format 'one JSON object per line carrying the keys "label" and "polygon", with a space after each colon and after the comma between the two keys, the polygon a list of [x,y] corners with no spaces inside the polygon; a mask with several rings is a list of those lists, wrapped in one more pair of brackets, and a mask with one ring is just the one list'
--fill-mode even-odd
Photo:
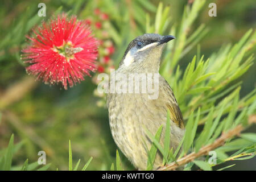
{"label": "blurred green and brown background behind the bird and red flower", "polygon": [[[38,4],[46,4],[46,17],[38,16]],[[170,6],[171,22],[181,20],[184,6],[193,1],[162,1]],[[217,5],[217,17],[208,15],[208,4]],[[193,23],[205,24],[208,34],[200,40],[200,51],[208,57],[222,44],[236,43],[250,28],[256,26],[256,2],[253,0],[207,1]],[[88,169],[109,169],[115,159],[115,145],[108,122],[104,98],[95,89],[95,76],[64,90],[49,86],[28,76],[26,64],[20,60],[22,48],[29,43],[25,35],[31,28],[53,15],[65,12],[86,19],[101,41],[98,70],[107,72],[116,67],[130,40],[145,32],[146,14],[154,18],[159,1],[1,1],[0,2],[0,150],[8,145],[14,133],[15,143],[23,145],[14,156],[14,165],[27,158],[38,160],[38,151],[46,151],[50,169],[68,169],[68,141],[72,142],[73,160],[85,163],[93,157]],[[184,69],[197,48],[191,49],[181,61]],[[255,87],[255,64],[242,76],[241,97]],[[240,81],[240,80],[238,80]],[[250,132],[255,132],[255,126]],[[121,155],[126,169],[133,169]],[[232,169],[251,169],[255,158],[236,162]],[[254,168],[255,169],[255,168]]]}

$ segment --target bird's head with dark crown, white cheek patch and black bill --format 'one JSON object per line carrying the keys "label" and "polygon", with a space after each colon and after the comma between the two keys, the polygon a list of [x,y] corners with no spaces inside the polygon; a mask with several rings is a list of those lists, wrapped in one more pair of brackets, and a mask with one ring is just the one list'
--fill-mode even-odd
{"label": "bird's head with dark crown, white cheek patch and black bill", "polygon": [[119,64],[119,69],[129,72],[158,72],[163,46],[172,35],[144,34],[130,42]]}

